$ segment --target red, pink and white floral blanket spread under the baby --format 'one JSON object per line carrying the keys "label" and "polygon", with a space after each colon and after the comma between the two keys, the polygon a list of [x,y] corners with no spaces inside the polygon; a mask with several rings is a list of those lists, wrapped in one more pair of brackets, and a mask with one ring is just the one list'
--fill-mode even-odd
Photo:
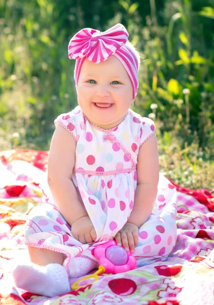
{"label": "red, pink and white floral blanket spread under the baby", "polygon": [[0,152],[0,303],[214,304],[214,198],[206,190],[187,190],[173,181],[178,191],[177,242],[165,262],[103,275],[93,284],[85,281],[82,284],[88,286],[54,298],[14,287],[12,268],[29,260],[23,227],[29,211],[41,202],[39,180],[47,157],[47,151]]}

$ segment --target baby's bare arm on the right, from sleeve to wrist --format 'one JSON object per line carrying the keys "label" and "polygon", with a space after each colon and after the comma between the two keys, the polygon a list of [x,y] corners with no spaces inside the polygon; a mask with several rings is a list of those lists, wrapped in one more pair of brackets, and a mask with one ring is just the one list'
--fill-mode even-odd
{"label": "baby's bare arm on the right, from sleeve to wrist", "polygon": [[155,134],[139,149],[137,175],[135,201],[128,222],[140,228],[151,215],[157,196],[159,161]]}

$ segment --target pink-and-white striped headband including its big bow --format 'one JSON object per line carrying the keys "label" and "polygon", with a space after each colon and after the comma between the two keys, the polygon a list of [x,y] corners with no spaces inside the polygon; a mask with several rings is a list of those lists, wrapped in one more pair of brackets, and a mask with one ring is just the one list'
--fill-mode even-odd
{"label": "pink-and-white striped headband including its big bow", "polygon": [[127,39],[128,32],[120,23],[103,33],[93,28],[83,28],[77,32],[68,44],[68,57],[76,59],[74,69],[76,85],[85,58],[99,64],[114,55],[128,73],[133,88],[133,99],[135,99],[138,89],[140,59],[138,52]]}

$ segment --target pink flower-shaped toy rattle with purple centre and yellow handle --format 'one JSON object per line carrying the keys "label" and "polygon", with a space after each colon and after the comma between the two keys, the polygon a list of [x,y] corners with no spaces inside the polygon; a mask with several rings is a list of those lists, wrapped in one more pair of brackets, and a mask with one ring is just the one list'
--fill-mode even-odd
{"label": "pink flower-shaped toy rattle with purple centre and yellow handle", "polygon": [[99,268],[92,275],[86,276],[78,281],[76,281],[71,288],[73,290],[87,286],[77,286],[78,282],[83,280],[94,278],[95,281],[99,280],[99,273],[120,273],[127,272],[129,270],[135,269],[137,261],[133,257],[130,251],[126,252],[124,248],[117,246],[115,240],[110,239],[109,241],[102,243],[102,245],[97,246],[94,249],[94,255],[99,261]]}

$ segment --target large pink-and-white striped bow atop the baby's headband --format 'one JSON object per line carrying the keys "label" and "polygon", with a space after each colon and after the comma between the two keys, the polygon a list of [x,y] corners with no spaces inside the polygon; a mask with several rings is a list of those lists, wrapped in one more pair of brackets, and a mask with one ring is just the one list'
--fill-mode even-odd
{"label": "large pink-and-white striped bow atop the baby's headband", "polygon": [[93,28],[84,28],[71,38],[68,44],[68,57],[87,57],[91,62],[99,64],[120,49],[127,39],[128,32],[120,23],[103,33]]}

